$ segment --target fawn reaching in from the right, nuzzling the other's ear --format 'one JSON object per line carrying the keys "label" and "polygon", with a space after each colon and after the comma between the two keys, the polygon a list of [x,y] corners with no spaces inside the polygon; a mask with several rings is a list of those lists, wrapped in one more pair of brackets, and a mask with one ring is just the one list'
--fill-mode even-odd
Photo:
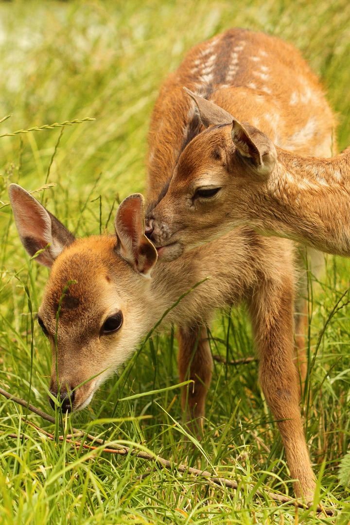
{"label": "fawn reaching in from the right, nuzzling the other's ear", "polygon": [[[179,255],[249,224],[350,256],[350,147],[332,159],[290,153],[250,123],[185,91],[209,129],[186,146],[167,193],[149,216],[147,235],[158,254],[171,245]],[[300,133],[305,147],[316,134],[311,117]],[[290,137],[279,140],[287,147]]]}

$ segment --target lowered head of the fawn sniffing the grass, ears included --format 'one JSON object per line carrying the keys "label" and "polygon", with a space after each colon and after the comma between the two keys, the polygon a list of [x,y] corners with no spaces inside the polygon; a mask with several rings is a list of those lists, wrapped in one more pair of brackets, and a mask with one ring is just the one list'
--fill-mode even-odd
{"label": "lowered head of the fawn sniffing the grass, ears included", "polygon": [[51,268],[38,311],[52,349],[50,392],[65,411],[81,409],[149,328],[145,277],[157,252],[144,235],[143,197],[121,203],[115,235],[76,240],[22,187],[11,184],[9,196],[24,247]]}

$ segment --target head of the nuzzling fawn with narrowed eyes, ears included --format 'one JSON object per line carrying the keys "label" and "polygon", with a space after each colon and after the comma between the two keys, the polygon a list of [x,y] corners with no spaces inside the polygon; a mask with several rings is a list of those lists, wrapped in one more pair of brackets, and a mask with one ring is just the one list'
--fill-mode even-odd
{"label": "head of the nuzzling fawn with narrowed eyes, ears included", "polygon": [[187,144],[166,195],[147,217],[147,235],[164,260],[224,235],[232,223],[242,224],[249,195],[267,181],[277,159],[261,131],[186,91],[207,129]]}

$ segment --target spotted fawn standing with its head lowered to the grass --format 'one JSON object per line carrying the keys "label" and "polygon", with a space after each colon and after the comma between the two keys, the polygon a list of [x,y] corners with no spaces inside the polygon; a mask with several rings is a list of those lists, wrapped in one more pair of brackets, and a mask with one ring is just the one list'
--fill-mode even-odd
{"label": "spotted fawn standing with its head lowered to the grass", "polygon": [[[166,195],[187,144],[204,140],[199,158],[187,157],[186,173],[202,159],[210,159],[213,167],[221,159],[220,170],[231,162],[224,157],[230,129],[216,128],[220,132],[213,150],[205,142],[211,130],[202,131],[184,85],[259,125],[274,143],[293,152],[331,154],[332,113],[299,53],[277,38],[232,29],[190,50],[161,90],[149,135],[149,213]],[[207,176],[210,180],[211,172]],[[165,319],[178,325],[179,379],[194,382],[182,394],[187,417],[200,422],[204,416],[213,367],[206,325],[217,307],[245,301],[260,359],[260,384],[283,439],[295,493],[312,498],[315,479],[293,362],[292,243],[242,226],[181,257],[177,243],[162,247],[155,264],[157,250],[145,236],[140,194],[127,197],[118,208],[115,235],[77,240],[20,186],[10,185],[9,195],[24,247],[31,256],[43,250],[36,260],[51,268],[38,320],[52,348],[50,391],[59,394],[63,410],[87,406],[164,311],[209,276]],[[203,195],[188,196],[188,205],[203,199],[205,206]]]}

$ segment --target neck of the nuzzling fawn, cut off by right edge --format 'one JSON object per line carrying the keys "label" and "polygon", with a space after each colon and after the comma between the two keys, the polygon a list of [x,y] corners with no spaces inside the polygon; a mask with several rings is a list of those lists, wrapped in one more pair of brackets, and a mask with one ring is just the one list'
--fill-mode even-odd
{"label": "neck of the nuzzling fawn, cut off by right edge", "polygon": [[[332,159],[307,159],[278,149],[278,160],[257,200],[266,216],[254,226],[330,253],[350,254],[350,147]],[[253,206],[254,208],[254,206]],[[261,216],[261,208],[253,214]],[[262,224],[263,222],[263,224]],[[259,224],[260,223],[260,224]],[[336,249],[337,248],[337,249]]]}

